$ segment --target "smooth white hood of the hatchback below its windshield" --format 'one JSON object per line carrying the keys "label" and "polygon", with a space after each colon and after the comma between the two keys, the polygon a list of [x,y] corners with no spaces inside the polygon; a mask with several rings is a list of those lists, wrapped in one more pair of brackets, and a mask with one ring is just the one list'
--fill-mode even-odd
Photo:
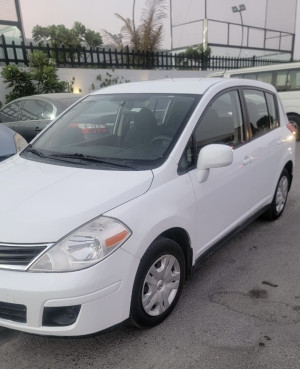
{"label": "smooth white hood of the hatchback below its windshield", "polygon": [[55,242],[85,222],[141,196],[152,171],[51,165],[19,156],[0,163],[0,242]]}

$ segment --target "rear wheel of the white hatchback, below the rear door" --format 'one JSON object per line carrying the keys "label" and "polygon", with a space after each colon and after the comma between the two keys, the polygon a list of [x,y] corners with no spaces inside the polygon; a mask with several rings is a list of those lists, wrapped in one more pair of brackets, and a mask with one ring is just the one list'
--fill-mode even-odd
{"label": "rear wheel of the white hatchback, below the rear door", "polygon": [[275,220],[283,213],[290,189],[290,180],[290,174],[284,168],[279,177],[272,203],[263,214],[265,219]]}

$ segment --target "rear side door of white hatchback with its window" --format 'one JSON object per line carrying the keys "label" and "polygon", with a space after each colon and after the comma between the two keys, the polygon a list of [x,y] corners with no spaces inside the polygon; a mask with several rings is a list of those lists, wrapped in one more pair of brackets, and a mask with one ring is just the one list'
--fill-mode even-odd
{"label": "rear side door of white hatchback with its window", "polygon": [[255,181],[248,190],[258,204],[271,202],[284,157],[284,134],[279,122],[277,98],[265,90],[242,90],[250,128],[249,166]]}

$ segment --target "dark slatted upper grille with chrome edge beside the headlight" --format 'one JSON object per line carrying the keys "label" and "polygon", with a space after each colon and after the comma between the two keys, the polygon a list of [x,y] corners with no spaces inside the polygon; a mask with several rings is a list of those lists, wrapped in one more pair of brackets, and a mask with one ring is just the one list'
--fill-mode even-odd
{"label": "dark slatted upper grille with chrome edge beside the headlight", "polygon": [[0,243],[0,268],[25,270],[48,244],[21,245]]}

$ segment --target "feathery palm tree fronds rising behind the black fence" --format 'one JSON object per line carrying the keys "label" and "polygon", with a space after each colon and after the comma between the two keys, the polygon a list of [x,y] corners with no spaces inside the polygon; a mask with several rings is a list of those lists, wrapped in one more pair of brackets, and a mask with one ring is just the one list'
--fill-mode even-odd
{"label": "feathery palm tree fronds rising behind the black fence", "polygon": [[144,52],[159,50],[163,38],[162,21],[166,18],[165,1],[146,0],[138,27],[135,27],[133,20],[115,14],[123,22],[123,26],[118,35],[104,31],[106,43],[112,43],[119,49],[128,46],[131,49]]}

